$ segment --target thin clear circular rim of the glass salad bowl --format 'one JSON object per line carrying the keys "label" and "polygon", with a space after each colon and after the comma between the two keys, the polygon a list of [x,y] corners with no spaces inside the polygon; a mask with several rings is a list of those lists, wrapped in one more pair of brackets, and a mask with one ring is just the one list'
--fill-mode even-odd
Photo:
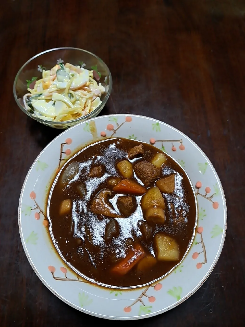
{"label": "thin clear circular rim of the glass salad bowl", "polygon": [[[19,102],[19,100],[18,100],[18,98],[17,98],[17,95],[16,95],[16,82],[17,82],[17,80],[18,80],[18,78],[19,78],[19,75],[20,75],[21,71],[23,70],[23,68],[24,68],[24,67],[25,67],[29,62],[31,62],[33,59],[35,59],[35,58],[37,58],[37,57],[43,55],[44,53],[51,52],[51,51],[56,51],[56,50],[80,50],[80,51],[82,51],[82,52],[87,52],[87,53],[89,53],[90,55],[92,55],[93,57],[95,57],[98,61],[100,61],[100,62],[105,66],[105,68],[106,68],[107,71],[108,71],[108,75],[109,75],[109,79],[110,79],[110,83],[109,83],[109,88],[108,88],[107,94],[106,94],[104,100],[102,101],[102,103],[99,105],[99,107],[97,107],[94,111],[90,112],[89,114],[87,114],[87,115],[85,115],[85,116],[79,117],[79,118],[74,119],[74,120],[68,120],[68,121],[65,121],[65,122],[54,122],[54,121],[50,121],[50,120],[40,119],[40,118],[38,118],[37,116],[33,116],[30,112],[28,112],[27,110],[25,110],[25,109],[21,106],[21,104],[20,104],[20,102]],[[96,112],[98,112],[98,114],[99,114],[99,112],[100,112],[100,111],[103,109],[103,107],[105,106],[105,104],[106,104],[106,102],[107,102],[107,100],[108,100],[108,98],[109,98],[109,96],[110,96],[110,94],[111,94],[111,90],[112,90],[112,76],[111,76],[111,72],[110,72],[108,66],[106,65],[106,63],[105,63],[102,59],[100,59],[98,56],[96,56],[94,53],[92,53],[92,52],[90,52],[90,51],[87,51],[87,50],[84,50],[84,49],[74,48],[74,47],[52,48],[52,49],[48,49],[48,50],[42,51],[42,52],[38,53],[37,55],[31,57],[31,58],[30,58],[29,60],[27,60],[27,61],[24,63],[24,65],[19,69],[19,71],[18,71],[18,73],[17,73],[17,75],[16,75],[16,77],[15,77],[15,79],[14,79],[14,86],[13,86],[14,98],[15,98],[15,101],[16,101],[17,105],[20,107],[20,109],[21,109],[21,110],[22,110],[26,115],[28,115],[29,117],[31,117],[32,119],[37,120],[37,121],[40,122],[41,124],[46,124],[46,125],[50,125],[50,126],[52,126],[52,125],[69,125],[69,124],[71,124],[71,123],[72,123],[72,124],[77,124],[77,123],[79,123],[79,122],[81,122],[81,121],[83,121],[83,120],[87,120],[87,119],[89,119],[89,118],[94,117],[94,114],[96,114]]]}

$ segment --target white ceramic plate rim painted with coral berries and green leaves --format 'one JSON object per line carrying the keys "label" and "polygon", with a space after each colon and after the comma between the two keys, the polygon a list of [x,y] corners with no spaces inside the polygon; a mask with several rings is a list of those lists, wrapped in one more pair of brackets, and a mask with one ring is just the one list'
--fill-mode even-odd
{"label": "white ceramic plate rim painted with coral berries and green leaves", "polygon": [[[144,288],[108,289],[90,284],[67,270],[52,245],[46,197],[54,172],[84,144],[101,138],[155,141],[186,170],[196,190],[198,229],[184,260],[164,279]],[[36,219],[35,219],[36,218]],[[227,211],[219,177],[203,151],[179,130],[143,116],[109,115],[82,122],[49,143],[32,164],[21,191],[19,228],[26,256],[43,284],[77,310],[107,319],[140,319],[172,309],[207,279],[220,256]]]}

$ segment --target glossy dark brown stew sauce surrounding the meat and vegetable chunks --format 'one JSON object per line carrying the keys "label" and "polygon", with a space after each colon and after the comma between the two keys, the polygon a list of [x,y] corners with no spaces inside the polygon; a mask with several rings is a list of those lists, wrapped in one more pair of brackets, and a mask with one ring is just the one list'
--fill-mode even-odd
{"label": "glossy dark brown stew sauce surrounding the meat and vegetable chunks", "polygon": [[[53,188],[49,217],[50,233],[56,249],[70,267],[97,283],[119,287],[147,284],[175,267],[191,245],[197,219],[193,188],[182,167],[164,153],[167,162],[161,167],[159,178],[174,173],[175,189],[172,194],[163,194],[166,204],[165,223],[150,225],[153,236],[156,232],[163,232],[175,239],[179,247],[179,260],[157,261],[155,266],[140,273],[136,266],[125,275],[111,271],[115,263],[125,258],[134,244],[140,244],[145,252],[155,256],[154,237],[146,241],[139,228],[138,222],[144,221],[140,206],[142,195],[133,196],[135,210],[127,217],[110,218],[90,211],[90,204],[95,195],[104,188],[110,188],[107,184],[109,178],[121,177],[116,164],[124,159],[128,160],[128,150],[139,144],[143,144],[144,154],[129,160],[133,165],[142,160],[151,161],[156,153],[162,152],[155,146],[135,140],[113,138],[100,141],[85,147],[72,157],[63,166]],[[64,187],[60,182],[62,173],[72,162],[79,164],[79,173]],[[91,168],[99,165],[103,166],[102,177],[89,177]],[[133,179],[143,185],[135,173]],[[80,184],[85,185],[84,196],[77,192],[77,185]],[[109,198],[110,204],[117,211],[117,199],[121,196],[122,194],[112,192],[112,197]],[[60,203],[65,199],[71,199],[72,210],[68,214],[59,215]],[[117,220],[120,232],[108,242],[104,238],[105,229],[112,219]]]}

